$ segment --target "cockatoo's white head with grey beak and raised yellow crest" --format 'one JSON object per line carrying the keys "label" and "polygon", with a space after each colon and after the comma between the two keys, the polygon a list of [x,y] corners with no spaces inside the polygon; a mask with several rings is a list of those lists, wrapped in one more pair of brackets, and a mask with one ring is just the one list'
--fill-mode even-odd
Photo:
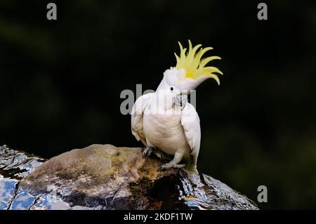
{"label": "cockatoo's white head with grey beak and raised yellow crest", "polygon": [[206,79],[215,79],[217,84],[220,84],[217,74],[223,74],[216,67],[206,66],[211,60],[220,59],[218,56],[210,56],[202,58],[204,53],[210,51],[211,47],[202,48],[201,44],[192,47],[189,40],[189,49],[180,46],[180,56],[176,53],[176,67],[171,67],[164,72],[164,78],[159,84],[157,91],[165,91],[167,95],[172,95],[174,103],[185,105],[187,95],[190,91],[195,90],[199,84],[202,84]]}

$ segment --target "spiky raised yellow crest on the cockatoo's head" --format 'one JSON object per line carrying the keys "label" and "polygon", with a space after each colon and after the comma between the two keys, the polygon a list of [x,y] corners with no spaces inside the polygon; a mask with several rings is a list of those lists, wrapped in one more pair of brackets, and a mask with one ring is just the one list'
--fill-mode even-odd
{"label": "spiky raised yellow crest on the cockatoo's head", "polygon": [[[213,48],[200,48],[202,46],[201,44],[198,44],[197,46],[192,48],[192,43],[189,40],[189,51],[187,51],[187,54],[185,54],[187,48],[183,48],[180,42],[178,42],[178,44],[180,46],[180,57],[178,57],[178,55],[174,53],[177,59],[176,69],[185,69],[185,78],[198,79],[199,77],[202,77],[202,75],[207,75],[210,78],[215,79],[218,85],[220,84],[220,81],[217,75],[214,74],[214,72],[218,74],[223,74],[223,72],[220,72],[217,67],[205,67],[206,64],[209,63],[211,60],[220,59],[220,57],[211,56],[202,59],[202,55],[204,55],[206,51],[210,51]],[[198,49],[199,52],[197,52]]]}

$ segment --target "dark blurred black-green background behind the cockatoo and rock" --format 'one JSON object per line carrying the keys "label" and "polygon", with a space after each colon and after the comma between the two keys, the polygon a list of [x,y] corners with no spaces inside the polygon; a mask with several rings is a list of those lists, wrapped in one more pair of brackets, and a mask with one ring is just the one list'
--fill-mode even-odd
{"label": "dark blurred black-green background behind the cockatoo and rock", "polygon": [[177,41],[212,46],[224,72],[197,88],[198,168],[261,209],[316,209],[316,2],[0,1],[0,144],[50,158],[141,146],[124,89],[155,89]]}

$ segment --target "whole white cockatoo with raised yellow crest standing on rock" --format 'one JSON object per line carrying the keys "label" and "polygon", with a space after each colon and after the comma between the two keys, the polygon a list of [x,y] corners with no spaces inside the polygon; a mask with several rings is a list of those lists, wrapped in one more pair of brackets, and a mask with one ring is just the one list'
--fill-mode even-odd
{"label": "whole white cockatoo with raised yellow crest standing on rock", "polygon": [[198,173],[201,130],[199,116],[195,107],[187,102],[187,95],[209,78],[215,79],[219,85],[216,73],[223,73],[216,67],[206,67],[211,60],[220,57],[202,58],[212,48],[201,48],[201,44],[192,48],[189,40],[187,51],[180,42],[178,44],[180,56],[175,53],[176,67],[164,72],[157,91],[140,96],[133,105],[131,131],[145,145],[144,157],[156,148],[173,155],[173,160],[162,165],[161,169],[185,167]]}

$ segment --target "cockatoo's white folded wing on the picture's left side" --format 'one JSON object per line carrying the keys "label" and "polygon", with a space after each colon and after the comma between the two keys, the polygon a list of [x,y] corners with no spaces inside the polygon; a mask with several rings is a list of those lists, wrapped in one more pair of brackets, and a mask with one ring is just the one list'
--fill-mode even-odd
{"label": "cockatoo's white folded wing on the picture's left side", "polygon": [[136,140],[141,140],[145,146],[147,146],[145,133],[143,132],[143,114],[150,99],[154,93],[147,93],[140,96],[131,111],[131,131]]}

